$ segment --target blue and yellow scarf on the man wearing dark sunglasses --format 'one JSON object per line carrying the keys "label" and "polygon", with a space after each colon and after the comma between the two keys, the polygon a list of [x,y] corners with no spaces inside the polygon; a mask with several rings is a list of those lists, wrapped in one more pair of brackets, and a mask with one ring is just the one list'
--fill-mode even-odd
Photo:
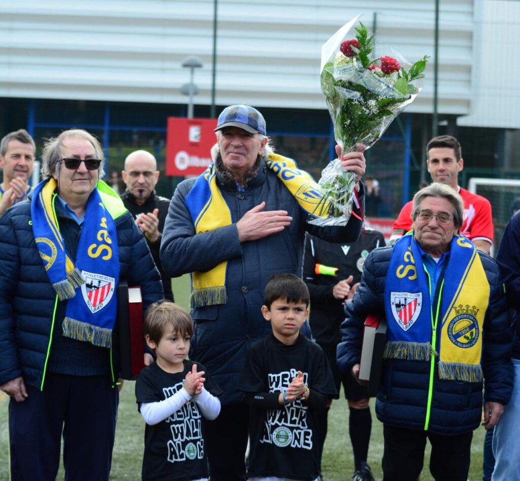
{"label": "blue and yellow scarf on the man wearing dark sunglasses", "polygon": [[[49,281],[59,300],[67,300],[63,335],[111,347],[117,311],[117,296],[113,294],[119,282],[118,237],[113,218],[98,189],[94,189],[87,201],[74,263],[65,251],[54,210],[56,187],[55,179],[38,184],[31,200],[31,217],[34,241]],[[107,200],[122,204],[119,199]]]}

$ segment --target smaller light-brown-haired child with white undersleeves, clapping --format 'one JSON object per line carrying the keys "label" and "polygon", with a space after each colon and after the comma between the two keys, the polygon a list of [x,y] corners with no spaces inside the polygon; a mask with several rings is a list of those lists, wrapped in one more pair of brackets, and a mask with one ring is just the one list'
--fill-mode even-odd
{"label": "smaller light-brown-haired child with white undersleeves, clapping", "polygon": [[146,311],[144,333],[157,361],[139,373],[135,385],[146,421],[142,479],[207,479],[201,417],[218,416],[222,390],[204,366],[186,360],[193,322],[183,308],[161,301]]}

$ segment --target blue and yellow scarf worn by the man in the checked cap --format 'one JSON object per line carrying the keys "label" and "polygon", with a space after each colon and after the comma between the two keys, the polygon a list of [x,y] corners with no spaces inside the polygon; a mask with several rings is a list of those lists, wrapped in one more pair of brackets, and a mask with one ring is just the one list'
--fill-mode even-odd
{"label": "blue and yellow scarf worn by the man in the checked cap", "polygon": [[[316,215],[314,211],[321,200],[321,190],[315,180],[307,172],[299,170],[294,160],[282,155],[269,154],[266,165],[289,189],[300,207],[308,214]],[[197,178],[186,196],[185,204],[197,233],[215,230],[234,222],[215,176],[216,168],[211,164]],[[322,211],[322,217],[326,217],[328,209]],[[191,307],[226,304],[226,272],[227,261],[207,272],[192,272]]]}

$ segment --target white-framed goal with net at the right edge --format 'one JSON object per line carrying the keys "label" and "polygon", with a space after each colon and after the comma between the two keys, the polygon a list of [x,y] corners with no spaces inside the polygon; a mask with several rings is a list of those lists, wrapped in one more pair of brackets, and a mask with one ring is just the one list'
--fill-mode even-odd
{"label": "white-framed goal with net at the right edge", "polygon": [[496,254],[505,226],[513,213],[520,210],[520,180],[473,177],[467,190],[491,203],[495,238],[491,254]]}

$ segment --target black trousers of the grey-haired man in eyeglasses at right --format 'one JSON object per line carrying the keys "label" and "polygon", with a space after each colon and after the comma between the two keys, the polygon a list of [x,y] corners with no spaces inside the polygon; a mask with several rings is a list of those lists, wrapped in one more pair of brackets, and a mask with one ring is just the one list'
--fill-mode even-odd
{"label": "black trousers of the grey-haired man in eyeglasses at right", "polygon": [[473,432],[454,436],[383,426],[383,481],[415,481],[424,464],[426,438],[432,445],[430,472],[436,481],[466,481]]}

